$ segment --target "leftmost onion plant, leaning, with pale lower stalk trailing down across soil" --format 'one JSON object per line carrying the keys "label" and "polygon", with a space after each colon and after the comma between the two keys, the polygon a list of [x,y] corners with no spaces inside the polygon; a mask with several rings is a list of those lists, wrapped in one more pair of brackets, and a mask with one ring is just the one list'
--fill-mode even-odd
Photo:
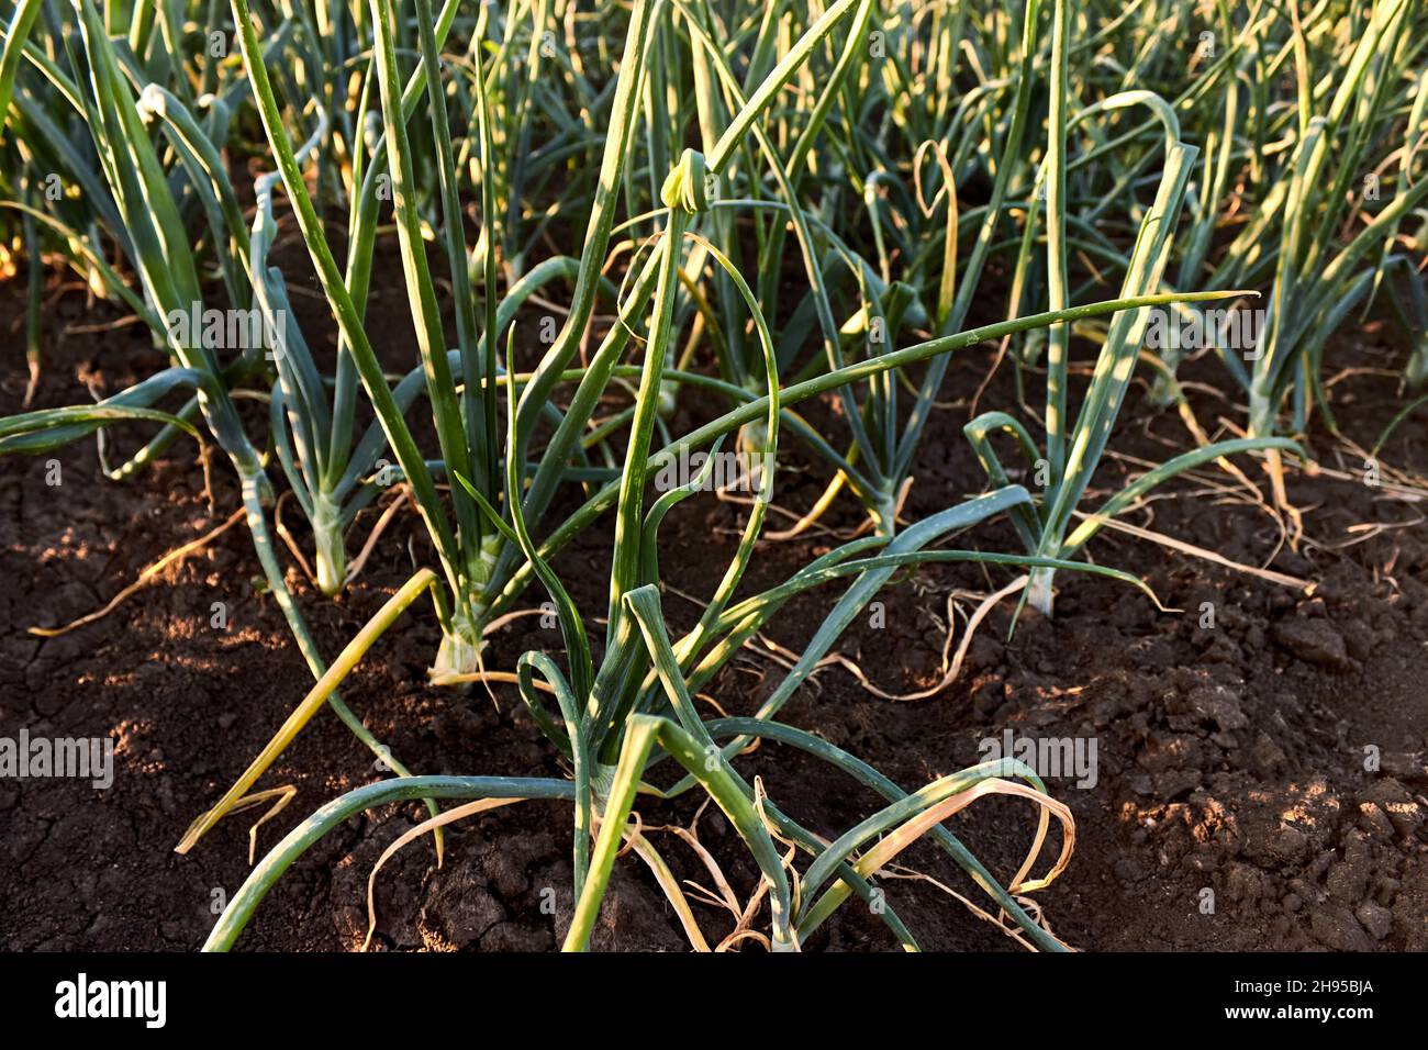
{"label": "leftmost onion plant, leaning, with pale lower stalk trailing down across soil", "polygon": [[[131,253],[130,261],[140,280],[141,297],[127,290],[123,279],[77,231],[66,230],[59,220],[50,221],[54,229],[66,231],[71,244],[103,273],[109,287],[124,290],[123,294],[139,316],[163,340],[174,364],[96,406],[44,409],[0,421],[0,451],[46,451],[123,420],[160,423],[160,434],[127,464],[111,471],[113,476],[123,477],[159,454],[173,436],[187,433],[200,437],[191,419],[201,416],[206,431],[227,456],[238,477],[246,520],[268,589],[304,660],[313,674],[320,677],[326,666],[287,587],[267,524],[273,490],[264,469],[266,457],[251,443],[231,393],[238,377],[263,367],[266,350],[280,347],[254,341],[243,347],[237,357],[223,361],[218,349],[203,337],[203,326],[191,321],[201,317],[206,297],[180,214],[180,196],[174,193],[176,183],[193,193],[196,207],[200,207],[208,223],[230,303],[241,309],[251,296],[241,219],[218,149],[174,93],[150,83],[136,99],[137,70],[133,51],[109,36],[91,0],[74,0],[74,19],[79,27],[79,40],[74,41],[77,49],[70,47],[67,56],[73,76],[49,61],[37,49],[27,50],[26,56],[40,66],[50,83],[84,117],[103,177],[103,193],[97,200],[113,201],[117,214],[114,229],[123,231],[123,243]],[[70,44],[69,40],[66,43]],[[217,106],[221,103],[210,100],[210,109]],[[163,124],[181,166],[178,173],[166,171],[160,163],[146,119]],[[57,141],[51,141],[51,146]],[[183,176],[184,180],[178,181],[176,176]],[[31,209],[26,214],[41,219],[46,213]],[[188,323],[177,323],[180,319],[188,319]],[[154,407],[184,390],[193,391],[191,400],[177,413]],[[391,756],[390,749],[371,734],[336,691],[328,696],[328,703],[374,754],[381,756],[400,774],[407,774],[407,769]]]}

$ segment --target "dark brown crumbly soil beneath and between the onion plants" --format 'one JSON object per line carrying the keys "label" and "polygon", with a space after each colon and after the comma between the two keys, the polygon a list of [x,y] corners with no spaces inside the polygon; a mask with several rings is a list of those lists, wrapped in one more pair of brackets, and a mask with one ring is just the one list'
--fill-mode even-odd
{"label": "dark brown crumbly soil beneath and between the onion plants", "polygon": [[[0,324],[20,310],[21,290],[0,289]],[[163,366],[137,326],[60,336],[67,324],[109,319],[69,294],[49,316],[39,406],[87,399],[81,377],[113,391]],[[1334,347],[1338,366],[1359,369],[1331,387],[1349,437],[1371,446],[1402,401],[1391,371],[1401,364],[1397,333],[1365,333]],[[381,340],[378,340],[381,341]],[[394,361],[410,337],[394,327]],[[922,443],[907,517],[941,510],[984,487],[960,429],[991,353],[960,356]],[[1388,371],[1381,371],[1388,370]],[[1187,373],[1221,384],[1212,361]],[[0,391],[0,411],[19,410],[19,366]],[[1225,384],[1228,386],[1228,384]],[[1014,404],[1004,367],[982,406]],[[1237,417],[1231,401],[1194,387],[1207,427]],[[681,410],[683,411],[683,410]],[[815,420],[830,410],[813,409]],[[687,420],[674,420],[681,427]],[[1422,423],[1407,423],[1384,451],[1387,463],[1428,473]],[[116,440],[133,447],[136,433]],[[126,444],[127,441],[127,444]],[[1132,391],[1097,487],[1112,490],[1138,470],[1188,447],[1174,411]],[[1339,446],[1317,433],[1314,449],[1337,466]],[[793,451],[793,450],[791,450]],[[46,457],[49,459],[49,457]],[[59,624],[104,604],[167,550],[227,517],[237,493],[214,457],[213,506],[203,493],[193,444],[176,449],[127,484],[100,474],[93,441],[57,459],[63,484],[46,483],[43,460],[0,464],[0,736],[117,739],[109,790],[73,780],[0,780],[0,944],[9,950],[191,950],[214,920],[214,903],[248,870],[244,816],[230,819],[188,856],[173,846],[190,820],[233,781],[306,693],[310,677],[290,644],[273,600],[254,586],[258,564],[241,526],[201,554],[166,570],[107,619],[41,640],[33,624]],[[1344,459],[1344,469],[1361,463]],[[1245,463],[1258,479],[1258,469]],[[824,483],[793,451],[778,501],[801,511]],[[1212,481],[1218,491],[1207,491]],[[1305,580],[1305,596],[1117,533],[1092,543],[1097,561],[1142,574],[1161,601],[1088,576],[1060,579],[1055,617],[1027,617],[1007,641],[1012,603],[982,626],[960,680],[932,699],[881,700],[841,667],[818,673],[784,709],[783,720],[817,731],[868,760],[904,787],[980,760],[978,741],[1011,729],[1018,736],[1095,741],[1092,787],[1052,779],[1054,796],[1077,820],[1067,874],[1037,894],[1051,929],[1085,950],[1107,949],[1428,949],[1428,539],[1414,503],[1357,480],[1292,471],[1289,494],[1305,507],[1305,541],[1279,550],[1272,520],[1231,479],[1202,471],[1167,490],[1132,521]],[[296,519],[296,513],[290,513]],[[371,526],[358,524],[358,536]],[[693,621],[677,591],[705,594],[723,571],[741,523],[740,509],[701,497],[683,504],[663,531],[663,566],[675,626]],[[1379,529],[1364,526],[1381,524]],[[293,521],[296,527],[296,520]],[[825,524],[857,524],[844,507]],[[780,523],[774,523],[778,527]],[[300,537],[301,539],[301,537]],[[557,561],[583,609],[600,610],[608,573],[608,531],[593,531]],[[750,586],[785,579],[831,543],[827,533],[760,546]],[[1014,550],[997,524],[962,546]],[[328,656],[406,580],[428,550],[414,521],[398,519],[363,577],[340,603],[321,599],[294,569],[290,580]],[[864,616],[838,646],[888,691],[935,683],[941,670],[945,596],[952,587],[990,591],[1005,570],[938,567],[888,587],[885,626]],[[531,596],[537,604],[544,596]],[[817,627],[833,591],[805,596],[768,634],[791,649]],[[227,627],[211,626],[213,603]],[[1204,606],[1214,627],[1202,627]],[[961,603],[962,611],[970,607]],[[511,667],[533,647],[554,651],[558,634],[518,620],[493,644],[488,661]],[[560,776],[551,750],[500,687],[457,696],[426,684],[436,630],[414,610],[391,630],[344,686],[344,697],[383,740],[423,773]],[[780,667],[750,653],[707,690],[730,713],[754,710],[780,680]],[[1375,749],[1365,751],[1365,749]],[[1378,756],[1377,769],[1365,759]],[[1369,763],[1372,766],[1372,763]],[[823,834],[837,834],[875,807],[875,799],[800,753],[774,744],[740,760],[771,797]],[[270,847],[301,816],[336,794],[383,776],[371,756],[330,714],[314,719],[270,771],[266,784],[298,794],[263,827]],[[693,799],[644,804],[647,826],[688,824]],[[240,944],[250,950],[347,950],[366,931],[371,864],[416,806],[391,806],[348,821],[278,883]],[[952,819],[952,830],[1001,879],[1015,871],[1032,830],[1025,801],[985,799]],[[724,863],[735,893],[753,887],[738,840],[705,813],[700,839]],[[708,886],[694,853],[653,833],[681,877]],[[547,950],[570,913],[570,811],[524,803],[454,827],[448,859],[436,869],[428,844],[413,844],[378,880],[377,946],[383,949]],[[1052,831],[1038,870],[1060,846]],[[985,903],[945,857],[918,846],[902,859],[947,887]],[[888,903],[920,943],[942,950],[1015,946],[932,883],[885,879]],[[554,914],[543,909],[554,891]],[[1212,913],[1205,910],[1211,900]],[[731,916],[695,904],[711,941]],[[640,861],[627,856],[601,916],[601,949],[684,947],[673,911]],[[885,927],[845,906],[811,949],[888,950]]]}

